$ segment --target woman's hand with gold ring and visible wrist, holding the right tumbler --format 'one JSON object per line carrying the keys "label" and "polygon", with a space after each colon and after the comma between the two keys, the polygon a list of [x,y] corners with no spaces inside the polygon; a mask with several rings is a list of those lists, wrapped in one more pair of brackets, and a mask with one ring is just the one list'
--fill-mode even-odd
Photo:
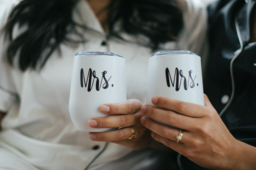
{"label": "woman's hand with gold ring and visible wrist, holding the right tumbler", "polygon": [[[240,142],[231,135],[206,95],[205,106],[160,96],[153,97],[152,103],[158,108],[144,105],[142,113],[146,116],[141,118],[141,123],[153,131],[151,136],[155,140],[206,168],[253,169],[253,164],[255,168],[255,160],[252,161],[256,155],[255,147]],[[165,126],[149,117],[178,129]],[[180,129],[183,129],[183,136],[177,143],[176,136]],[[248,151],[251,152],[249,158]],[[251,168],[247,166],[248,163],[251,163]]]}

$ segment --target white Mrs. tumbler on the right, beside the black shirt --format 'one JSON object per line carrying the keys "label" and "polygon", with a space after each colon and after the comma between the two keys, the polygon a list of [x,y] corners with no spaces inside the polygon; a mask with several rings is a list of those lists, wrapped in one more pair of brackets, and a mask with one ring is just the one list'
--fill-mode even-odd
{"label": "white Mrs. tumbler on the right, beside the black shirt", "polygon": [[153,105],[153,96],[204,105],[200,56],[191,51],[161,51],[152,55],[149,59],[147,104]]}

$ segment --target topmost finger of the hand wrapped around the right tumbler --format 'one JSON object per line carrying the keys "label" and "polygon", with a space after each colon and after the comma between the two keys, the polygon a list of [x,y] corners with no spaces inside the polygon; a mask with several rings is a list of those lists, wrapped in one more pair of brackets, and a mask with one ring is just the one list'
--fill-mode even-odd
{"label": "topmost finger of the hand wrapped around the right tumbler", "polygon": [[208,107],[206,106],[169,99],[162,96],[155,96],[151,101],[157,107],[181,113],[190,117],[203,117],[208,112]]}

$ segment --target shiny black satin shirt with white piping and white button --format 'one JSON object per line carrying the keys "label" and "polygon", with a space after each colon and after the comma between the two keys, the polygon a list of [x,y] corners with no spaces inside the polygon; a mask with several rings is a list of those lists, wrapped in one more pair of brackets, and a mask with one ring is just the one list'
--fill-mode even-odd
{"label": "shiny black satin shirt with white piping and white button", "polygon": [[[256,146],[256,43],[249,43],[256,1],[217,1],[208,7],[210,52],[204,74],[204,92],[220,113],[232,94],[231,59],[240,49],[235,18],[243,49],[233,62],[235,93],[221,116],[237,139]],[[206,169],[181,157],[183,169]]]}

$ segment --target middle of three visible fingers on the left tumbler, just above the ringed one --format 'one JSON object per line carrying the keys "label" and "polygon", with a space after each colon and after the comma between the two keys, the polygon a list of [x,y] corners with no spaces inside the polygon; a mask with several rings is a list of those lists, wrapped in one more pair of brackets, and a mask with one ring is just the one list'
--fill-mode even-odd
{"label": "middle of three visible fingers on the left tumbler, just above the ringed one", "polygon": [[128,115],[110,115],[106,117],[94,117],[88,121],[88,125],[92,128],[116,128],[128,127],[140,123],[143,116],[141,112]]}

